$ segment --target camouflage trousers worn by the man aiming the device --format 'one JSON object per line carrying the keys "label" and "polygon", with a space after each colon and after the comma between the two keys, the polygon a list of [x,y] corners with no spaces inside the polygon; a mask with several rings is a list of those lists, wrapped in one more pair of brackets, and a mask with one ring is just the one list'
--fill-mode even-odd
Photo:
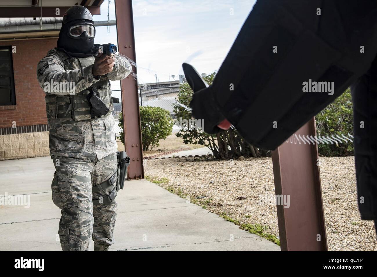
{"label": "camouflage trousers worn by the man aiming the device", "polygon": [[[118,170],[116,153],[94,161],[53,155],[55,173],[52,200],[61,209],[59,237],[63,251],[88,251],[90,237],[95,249],[107,250],[114,243],[117,203],[95,204],[112,192],[112,187],[92,192],[92,187],[109,180]],[[96,201],[98,202],[98,201]],[[100,201],[104,203],[103,201]]]}

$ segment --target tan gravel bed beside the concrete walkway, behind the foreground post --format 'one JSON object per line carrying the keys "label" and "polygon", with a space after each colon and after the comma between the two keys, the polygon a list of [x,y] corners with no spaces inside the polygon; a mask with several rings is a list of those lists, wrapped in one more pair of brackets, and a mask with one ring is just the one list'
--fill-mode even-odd
{"label": "tan gravel bed beside the concrete walkway, behind the foreground post", "polygon": [[[279,237],[276,206],[261,204],[274,195],[271,158],[236,161],[203,158],[144,160],[146,176],[167,178],[164,188],[187,194],[209,211],[242,223],[268,226]],[[354,157],[320,158],[328,248],[331,251],[376,251],[374,223],[360,219]]]}

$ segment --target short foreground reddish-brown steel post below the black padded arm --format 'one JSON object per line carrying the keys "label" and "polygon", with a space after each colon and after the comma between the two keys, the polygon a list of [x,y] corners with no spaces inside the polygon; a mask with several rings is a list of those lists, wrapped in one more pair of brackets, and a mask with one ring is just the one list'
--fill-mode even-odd
{"label": "short foreground reddish-brown steel post below the black padded arm", "polygon": [[[316,135],[315,119],[297,135]],[[289,195],[289,208],[277,205],[282,251],[327,251],[317,144],[284,142],[272,153],[275,193]],[[287,206],[288,207],[288,206]]]}

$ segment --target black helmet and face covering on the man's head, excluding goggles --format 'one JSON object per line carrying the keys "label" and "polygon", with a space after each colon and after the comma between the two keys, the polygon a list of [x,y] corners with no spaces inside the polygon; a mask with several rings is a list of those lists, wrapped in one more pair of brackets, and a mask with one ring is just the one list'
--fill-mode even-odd
{"label": "black helmet and face covering on the man's head, excluding goggles", "polygon": [[[72,6],[63,15],[57,49],[66,52],[71,57],[89,57],[98,52],[100,44],[94,44],[94,37],[89,37],[84,31],[79,37],[72,37],[69,29],[75,25],[92,25],[93,18],[84,6]],[[95,30],[95,27],[94,27]]]}

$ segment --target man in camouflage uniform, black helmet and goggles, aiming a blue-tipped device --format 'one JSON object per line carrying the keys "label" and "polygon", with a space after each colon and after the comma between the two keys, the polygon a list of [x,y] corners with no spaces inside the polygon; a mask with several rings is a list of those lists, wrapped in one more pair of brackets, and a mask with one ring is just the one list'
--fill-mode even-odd
{"label": "man in camouflage uniform, black helmet and goggles, aiming a blue-tipped device", "polygon": [[[55,165],[52,200],[61,209],[58,234],[63,251],[87,251],[90,237],[95,251],[107,251],[114,243],[119,182],[109,80],[126,78],[132,67],[118,55],[101,53],[95,58],[99,45],[93,44],[94,34],[90,12],[82,6],[69,8],[58,47],[37,67],[46,92]],[[106,115],[91,113],[86,96],[92,91],[109,108]]]}

